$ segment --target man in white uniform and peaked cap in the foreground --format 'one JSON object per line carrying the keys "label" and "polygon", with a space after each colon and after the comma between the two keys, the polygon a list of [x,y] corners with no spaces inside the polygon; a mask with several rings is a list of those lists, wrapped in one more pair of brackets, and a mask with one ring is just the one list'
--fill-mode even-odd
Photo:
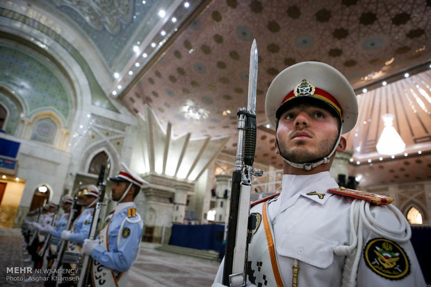
{"label": "man in white uniform and peaked cap in the foreground", "polygon": [[[295,64],[271,83],[266,116],[284,159],[282,192],[250,210],[257,227],[247,286],[425,287],[411,229],[391,198],[330,177],[357,112],[348,80],[327,64]],[[213,286],[222,286],[223,265]]]}

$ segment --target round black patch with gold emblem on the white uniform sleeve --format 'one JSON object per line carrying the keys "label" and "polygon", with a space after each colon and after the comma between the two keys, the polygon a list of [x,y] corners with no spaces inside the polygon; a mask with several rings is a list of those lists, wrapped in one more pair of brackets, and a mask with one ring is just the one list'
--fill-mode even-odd
{"label": "round black patch with gold emblem on the white uniform sleeve", "polygon": [[405,251],[393,241],[373,238],[364,248],[366,266],[377,275],[400,280],[410,273],[410,261]]}

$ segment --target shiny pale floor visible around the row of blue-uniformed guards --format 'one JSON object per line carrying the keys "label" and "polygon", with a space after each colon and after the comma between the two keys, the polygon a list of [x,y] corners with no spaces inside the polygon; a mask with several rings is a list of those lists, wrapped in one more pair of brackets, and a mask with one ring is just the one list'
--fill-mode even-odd
{"label": "shiny pale floor visible around the row of blue-uniformed guards", "polygon": [[[0,286],[43,286],[42,282],[6,281],[6,267],[29,266],[20,229],[0,229]],[[218,262],[154,249],[143,243],[138,259],[129,270],[129,286],[204,287],[211,286]],[[23,277],[24,275],[19,275]]]}

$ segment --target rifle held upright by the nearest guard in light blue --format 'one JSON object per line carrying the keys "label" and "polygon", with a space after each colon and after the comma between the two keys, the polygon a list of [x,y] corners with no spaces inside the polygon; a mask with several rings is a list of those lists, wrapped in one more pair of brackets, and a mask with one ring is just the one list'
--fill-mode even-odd
{"label": "rifle held upright by the nearest guard in light blue", "polygon": [[[90,240],[94,240],[96,234],[99,232],[99,222],[100,222],[100,212],[101,206],[104,205],[105,198],[105,189],[106,189],[106,177],[109,172],[109,167],[111,166],[110,160],[106,161],[106,166],[102,165],[100,168],[99,178],[97,179],[97,187],[99,188],[99,200],[97,201],[97,205],[95,207],[95,214],[93,214],[90,235],[88,238]],[[83,264],[81,268],[81,274],[79,276],[78,287],[86,286],[88,281],[88,275],[90,274],[90,268],[92,266],[92,258],[90,255],[83,255]]]}

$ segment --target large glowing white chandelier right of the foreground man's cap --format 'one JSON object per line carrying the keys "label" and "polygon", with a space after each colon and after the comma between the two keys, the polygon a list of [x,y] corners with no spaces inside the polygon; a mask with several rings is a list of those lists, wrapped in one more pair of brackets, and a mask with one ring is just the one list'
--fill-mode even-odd
{"label": "large glowing white chandelier right of the foreground man's cap", "polygon": [[393,114],[382,115],[384,128],[377,141],[377,152],[382,155],[396,155],[405,150],[405,143],[402,141],[400,134],[393,128]]}

